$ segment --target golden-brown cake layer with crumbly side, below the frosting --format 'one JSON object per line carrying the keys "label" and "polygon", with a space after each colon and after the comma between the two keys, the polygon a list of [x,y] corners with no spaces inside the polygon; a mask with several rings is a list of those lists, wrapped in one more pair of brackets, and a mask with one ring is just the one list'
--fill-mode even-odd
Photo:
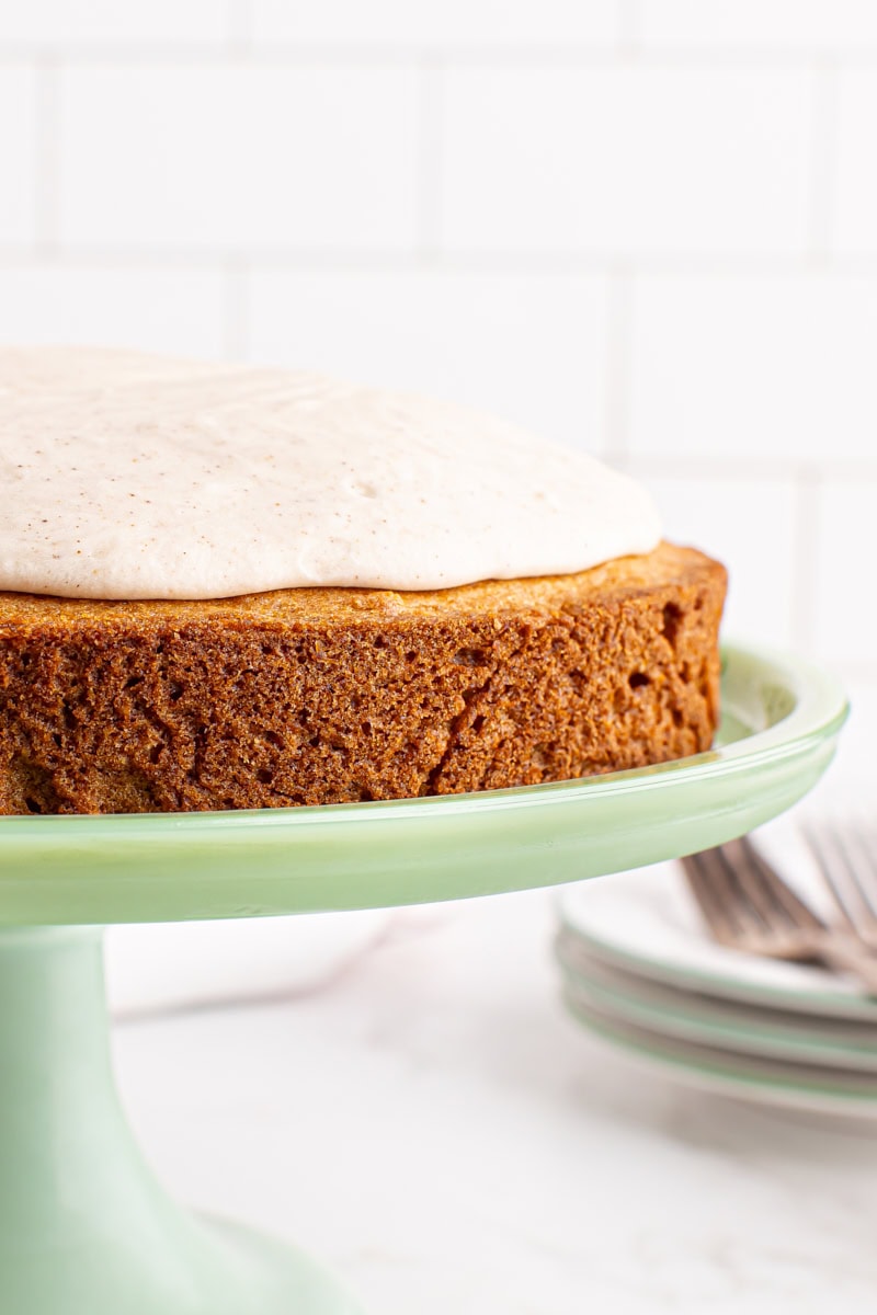
{"label": "golden-brown cake layer with crumbly side, below the frosting", "polygon": [[434,593],[0,593],[0,814],[447,794],[696,753],[724,589],[663,543]]}

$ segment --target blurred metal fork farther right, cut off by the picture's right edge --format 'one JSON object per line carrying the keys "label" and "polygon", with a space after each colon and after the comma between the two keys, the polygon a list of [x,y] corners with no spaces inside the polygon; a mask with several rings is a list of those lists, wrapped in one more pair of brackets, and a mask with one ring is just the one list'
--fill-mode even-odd
{"label": "blurred metal fork farther right, cut off by the picture's right edge", "polygon": [[877,952],[877,856],[873,831],[810,822],[802,834],[843,927]]}

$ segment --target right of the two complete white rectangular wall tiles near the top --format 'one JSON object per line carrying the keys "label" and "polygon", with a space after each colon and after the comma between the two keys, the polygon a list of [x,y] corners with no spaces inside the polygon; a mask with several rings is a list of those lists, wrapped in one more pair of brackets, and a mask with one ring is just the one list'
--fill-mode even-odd
{"label": "right of the two complete white rectangular wall tiles near the top", "polygon": [[450,251],[801,252],[813,74],[782,68],[451,68]]}

